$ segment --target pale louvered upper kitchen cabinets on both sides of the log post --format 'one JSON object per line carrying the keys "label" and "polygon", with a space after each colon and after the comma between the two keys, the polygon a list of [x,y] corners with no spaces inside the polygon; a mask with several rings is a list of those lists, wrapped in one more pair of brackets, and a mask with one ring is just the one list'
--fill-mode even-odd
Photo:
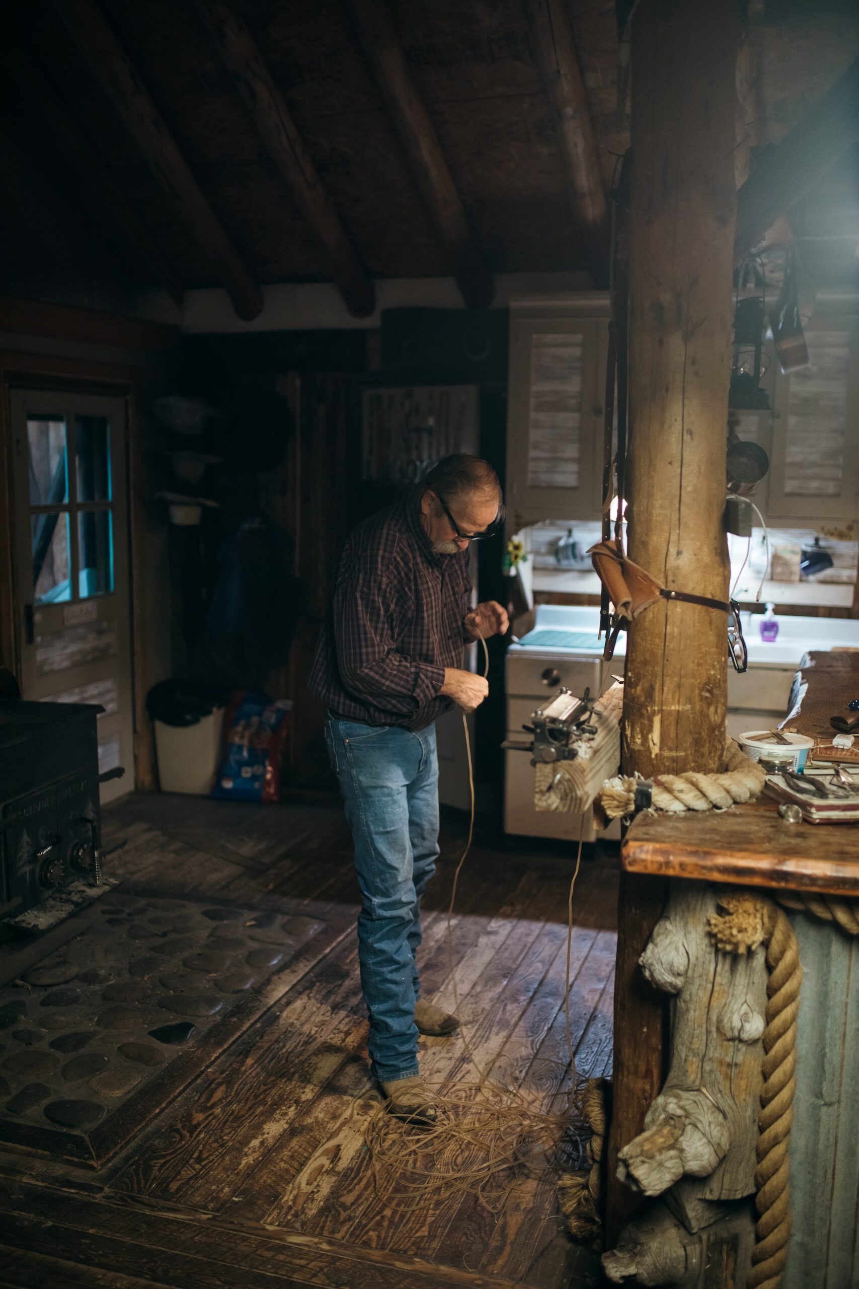
{"label": "pale louvered upper kitchen cabinets on both sides of the log post", "polygon": [[[510,532],[600,518],[608,321],[599,291],[510,304]],[[859,318],[820,307],[805,334],[810,363],[792,373],[765,345],[771,410],[732,416],[770,459],[752,495],[766,523],[841,527],[859,507]]]}

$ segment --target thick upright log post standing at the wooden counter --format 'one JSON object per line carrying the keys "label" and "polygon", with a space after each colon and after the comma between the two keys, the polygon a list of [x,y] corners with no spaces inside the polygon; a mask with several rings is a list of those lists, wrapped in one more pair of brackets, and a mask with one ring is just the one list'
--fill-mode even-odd
{"label": "thick upright log post standing at the wooden counter", "polygon": [[[630,556],[666,586],[728,598],[722,528],[734,245],[734,6],[641,0],[632,31]],[[724,612],[657,603],[626,657],[627,773],[722,767]],[[635,1207],[614,1179],[661,1081],[662,1007],[636,960],[662,909],[625,880],[619,910],[609,1237]]]}

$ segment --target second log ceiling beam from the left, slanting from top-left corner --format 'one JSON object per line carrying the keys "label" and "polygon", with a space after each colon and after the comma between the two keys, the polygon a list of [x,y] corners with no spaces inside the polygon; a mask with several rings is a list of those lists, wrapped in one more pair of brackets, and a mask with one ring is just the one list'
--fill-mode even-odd
{"label": "second log ceiling beam from the left, slanting from top-left corner", "polygon": [[156,180],[209,257],[240,318],[263,308],[263,293],[209,205],[176,141],[94,0],[54,0],[58,13],[143,152]]}

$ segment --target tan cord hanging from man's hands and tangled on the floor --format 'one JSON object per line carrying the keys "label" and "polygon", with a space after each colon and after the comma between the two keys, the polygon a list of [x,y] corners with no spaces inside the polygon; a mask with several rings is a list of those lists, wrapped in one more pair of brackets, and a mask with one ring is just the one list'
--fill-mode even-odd
{"label": "tan cord hanging from man's hands and tangled on the floor", "polygon": [[[489,670],[489,655],[486,641],[483,637],[479,639],[483,646],[486,677]],[[471,809],[467,840],[453,873],[447,909],[449,978],[457,1014],[461,1011],[461,1000],[453,955],[452,918],[458,877],[474,838],[474,767],[465,712],[462,727]],[[538,1057],[528,1062],[525,1072],[516,1074],[510,1069],[505,1078],[498,1070],[498,1060],[493,1057],[491,1066],[484,1070],[469,1042],[466,1026],[460,1021],[462,1048],[478,1078],[456,1083],[449,1083],[448,1079],[426,1080],[434,1092],[437,1123],[429,1128],[403,1124],[388,1114],[388,1102],[382,1102],[367,1121],[364,1143],[370,1152],[376,1188],[384,1195],[388,1207],[398,1212],[415,1212],[435,1201],[470,1194],[489,1212],[497,1213],[509,1196],[529,1179],[546,1178],[559,1182],[582,1167],[586,1119],[581,1111],[582,1084],[576,1072],[569,1020],[573,891],[581,858],[580,840],[568,895],[564,990],[568,1062]],[[498,1070],[495,1079],[489,1076],[493,1069]],[[562,1112],[542,1110],[541,1102],[545,1102],[546,1090],[541,1084],[558,1089],[554,1094],[556,1097],[563,1092],[567,1071],[571,1075],[567,1109]]]}

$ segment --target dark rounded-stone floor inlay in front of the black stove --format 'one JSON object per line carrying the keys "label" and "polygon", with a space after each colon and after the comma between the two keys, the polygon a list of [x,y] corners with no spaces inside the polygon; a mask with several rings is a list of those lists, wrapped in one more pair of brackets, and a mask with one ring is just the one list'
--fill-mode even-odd
{"label": "dark rounded-stone floor inlay in front of the black stove", "polygon": [[73,914],[62,950],[0,986],[0,1145],[122,1148],[288,987],[272,978],[322,923],[279,909],[111,892]]}

